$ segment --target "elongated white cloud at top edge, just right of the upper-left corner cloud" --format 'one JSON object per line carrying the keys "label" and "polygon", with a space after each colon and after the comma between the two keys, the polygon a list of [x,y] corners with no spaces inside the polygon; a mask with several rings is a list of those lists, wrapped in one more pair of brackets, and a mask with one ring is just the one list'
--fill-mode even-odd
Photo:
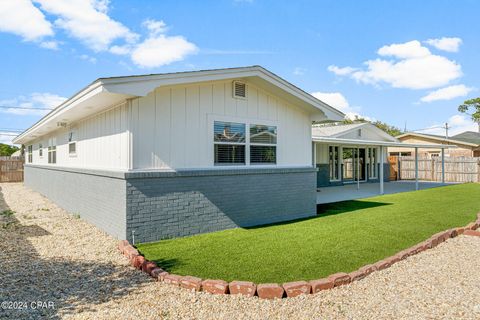
{"label": "elongated white cloud at top edge, just right of the upper-left corner cloud", "polygon": [[108,1],[34,0],[41,9],[58,16],[55,26],[66,30],[94,51],[104,51],[112,42],[134,42],[138,35],[107,14]]}

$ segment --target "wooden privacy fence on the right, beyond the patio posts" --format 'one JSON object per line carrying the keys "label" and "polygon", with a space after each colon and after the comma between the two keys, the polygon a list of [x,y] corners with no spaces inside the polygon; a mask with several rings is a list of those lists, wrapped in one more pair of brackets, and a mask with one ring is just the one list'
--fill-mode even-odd
{"label": "wooden privacy fence on the right, beyond the patio posts", "polygon": [[[415,157],[399,157],[399,178],[415,179]],[[418,158],[418,179],[442,181],[442,159]],[[445,157],[445,182],[480,182],[480,158]]]}

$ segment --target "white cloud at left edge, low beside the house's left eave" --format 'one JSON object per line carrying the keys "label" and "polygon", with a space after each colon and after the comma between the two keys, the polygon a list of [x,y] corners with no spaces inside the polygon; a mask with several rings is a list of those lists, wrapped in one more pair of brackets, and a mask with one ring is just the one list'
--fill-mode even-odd
{"label": "white cloud at left edge, low beside the house's left eave", "polygon": [[[12,108],[0,109],[0,112],[11,113],[16,115],[45,115],[49,111],[42,109],[53,109],[60,105],[67,98],[61,97],[56,94],[44,92],[44,93],[32,93],[30,96],[19,96],[9,100],[0,101],[0,105]],[[30,109],[19,109],[30,108]]]}

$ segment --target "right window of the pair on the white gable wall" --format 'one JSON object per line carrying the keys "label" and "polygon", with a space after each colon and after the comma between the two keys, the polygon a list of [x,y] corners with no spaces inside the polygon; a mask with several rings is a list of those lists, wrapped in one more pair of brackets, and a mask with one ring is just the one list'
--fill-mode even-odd
{"label": "right window of the pair on the white gable wall", "polygon": [[277,127],[250,125],[250,163],[277,163]]}

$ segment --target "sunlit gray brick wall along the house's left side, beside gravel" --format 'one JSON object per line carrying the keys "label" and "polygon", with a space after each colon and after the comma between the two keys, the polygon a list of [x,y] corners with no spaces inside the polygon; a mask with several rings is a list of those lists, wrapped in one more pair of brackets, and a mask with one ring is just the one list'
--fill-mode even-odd
{"label": "sunlit gray brick wall along the house's left side, beside gravel", "polygon": [[125,239],[125,180],[99,173],[26,165],[25,185],[118,239]]}

